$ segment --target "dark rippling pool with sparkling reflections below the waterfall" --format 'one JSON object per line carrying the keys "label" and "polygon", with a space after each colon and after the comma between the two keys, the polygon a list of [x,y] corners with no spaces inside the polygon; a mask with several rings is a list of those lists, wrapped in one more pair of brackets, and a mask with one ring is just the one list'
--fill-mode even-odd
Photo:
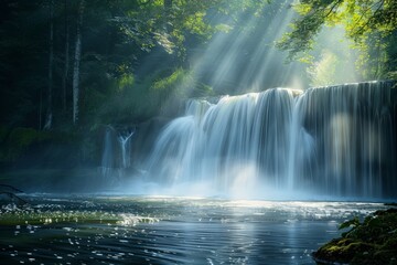
{"label": "dark rippling pool with sparkling reflections below the waterfall", "polygon": [[1,264],[314,264],[377,203],[42,197],[0,210]]}

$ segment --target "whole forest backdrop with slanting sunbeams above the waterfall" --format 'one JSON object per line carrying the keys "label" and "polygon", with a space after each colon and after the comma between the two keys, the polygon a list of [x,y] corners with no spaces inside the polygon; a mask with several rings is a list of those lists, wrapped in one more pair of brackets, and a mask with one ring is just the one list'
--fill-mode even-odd
{"label": "whole forest backdrop with slanting sunbeams above the waterfall", "polygon": [[[4,0],[0,123],[69,131],[253,86],[394,78],[396,10],[395,0]],[[332,43],[331,28],[343,32]],[[337,72],[346,65],[354,78]]]}

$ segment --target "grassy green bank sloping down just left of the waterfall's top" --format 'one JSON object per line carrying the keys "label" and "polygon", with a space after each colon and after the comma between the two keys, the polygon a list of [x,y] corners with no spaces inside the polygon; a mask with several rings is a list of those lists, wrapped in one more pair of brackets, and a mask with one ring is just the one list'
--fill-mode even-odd
{"label": "grassy green bank sloping down just left of the waterfall's top", "polygon": [[97,109],[95,124],[140,123],[157,115],[172,116],[189,97],[212,93],[211,87],[197,83],[190,71],[158,70],[107,98],[107,104]]}

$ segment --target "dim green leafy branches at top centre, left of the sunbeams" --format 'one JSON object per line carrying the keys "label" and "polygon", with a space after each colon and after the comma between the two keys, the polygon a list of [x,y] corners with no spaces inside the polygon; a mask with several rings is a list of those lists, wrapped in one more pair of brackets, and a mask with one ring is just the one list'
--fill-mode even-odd
{"label": "dim green leafy branches at top centre, left of the sunbeams", "polygon": [[[114,21],[143,51],[162,46],[168,53],[175,54],[181,61],[186,56],[186,43],[194,39],[205,42],[217,31],[227,31],[235,26],[238,13],[260,11],[268,0],[215,0],[185,1],[172,0],[165,7],[164,1],[137,1],[136,7],[125,9],[125,15],[116,17]],[[211,13],[211,15],[208,15]],[[232,18],[228,22],[211,21],[215,14]],[[225,19],[226,21],[226,19]]]}

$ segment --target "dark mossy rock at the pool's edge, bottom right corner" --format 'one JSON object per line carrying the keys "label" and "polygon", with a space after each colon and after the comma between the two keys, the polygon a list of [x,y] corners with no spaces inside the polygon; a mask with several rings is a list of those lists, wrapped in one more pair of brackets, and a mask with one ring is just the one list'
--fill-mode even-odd
{"label": "dark mossy rock at the pool's edge, bottom right corner", "polygon": [[397,209],[377,211],[363,223],[347,222],[353,224],[348,232],[313,253],[318,263],[397,264]]}

